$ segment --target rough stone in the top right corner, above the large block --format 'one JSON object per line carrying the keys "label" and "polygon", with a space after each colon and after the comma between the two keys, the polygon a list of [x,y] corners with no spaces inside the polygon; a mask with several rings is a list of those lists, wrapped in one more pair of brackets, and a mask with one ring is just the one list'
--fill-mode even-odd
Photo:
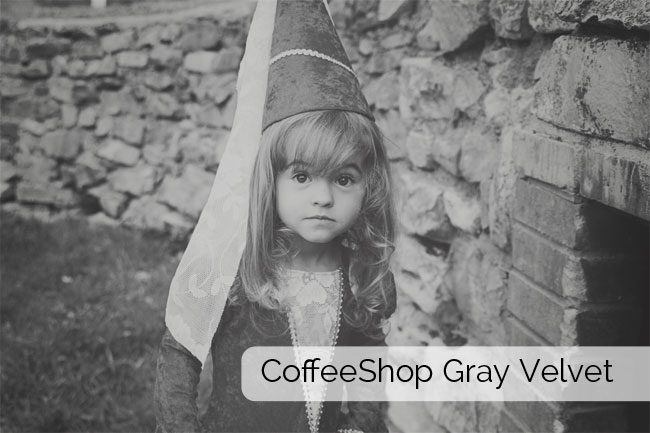
{"label": "rough stone in the top right corner, above the large block", "polygon": [[599,22],[607,26],[628,29],[650,25],[650,6],[647,1],[629,0],[556,0],[555,14],[564,21],[590,24]]}

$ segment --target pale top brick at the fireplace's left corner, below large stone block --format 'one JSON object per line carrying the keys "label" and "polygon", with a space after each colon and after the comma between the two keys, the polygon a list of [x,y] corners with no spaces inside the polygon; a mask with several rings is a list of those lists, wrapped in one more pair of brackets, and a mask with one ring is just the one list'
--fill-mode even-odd
{"label": "pale top brick at the fireplace's left corner, below large stone block", "polygon": [[525,176],[575,191],[581,148],[527,131],[514,134],[515,164]]}

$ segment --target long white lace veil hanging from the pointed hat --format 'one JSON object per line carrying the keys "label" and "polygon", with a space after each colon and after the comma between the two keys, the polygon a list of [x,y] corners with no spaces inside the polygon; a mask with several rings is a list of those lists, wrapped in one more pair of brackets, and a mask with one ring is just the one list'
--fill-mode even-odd
{"label": "long white lace veil hanging from the pointed hat", "polygon": [[260,0],[237,79],[237,108],[208,201],[171,282],[165,324],[203,364],[246,242],[277,0]]}

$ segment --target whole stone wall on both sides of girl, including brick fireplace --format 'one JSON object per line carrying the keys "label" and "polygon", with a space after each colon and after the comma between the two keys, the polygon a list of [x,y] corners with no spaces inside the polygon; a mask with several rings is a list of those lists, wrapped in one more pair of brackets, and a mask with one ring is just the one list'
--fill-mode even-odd
{"label": "whole stone wall on both sides of girl, including brick fireplace", "polygon": [[[634,308],[647,247],[630,250],[650,219],[647,6],[330,1],[393,162],[389,343],[638,341],[625,330],[648,315]],[[5,23],[3,207],[187,234],[227,138],[247,24]],[[629,418],[621,405],[472,402],[394,404],[389,417],[404,432],[612,431]]]}

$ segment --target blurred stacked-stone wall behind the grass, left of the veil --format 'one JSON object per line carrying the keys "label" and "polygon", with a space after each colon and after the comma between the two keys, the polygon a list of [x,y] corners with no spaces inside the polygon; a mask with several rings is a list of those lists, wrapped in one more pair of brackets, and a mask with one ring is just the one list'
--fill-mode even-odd
{"label": "blurred stacked-stone wall behind the grass, left of the veil", "polygon": [[4,207],[187,234],[232,123],[249,10],[170,24],[5,23]]}

